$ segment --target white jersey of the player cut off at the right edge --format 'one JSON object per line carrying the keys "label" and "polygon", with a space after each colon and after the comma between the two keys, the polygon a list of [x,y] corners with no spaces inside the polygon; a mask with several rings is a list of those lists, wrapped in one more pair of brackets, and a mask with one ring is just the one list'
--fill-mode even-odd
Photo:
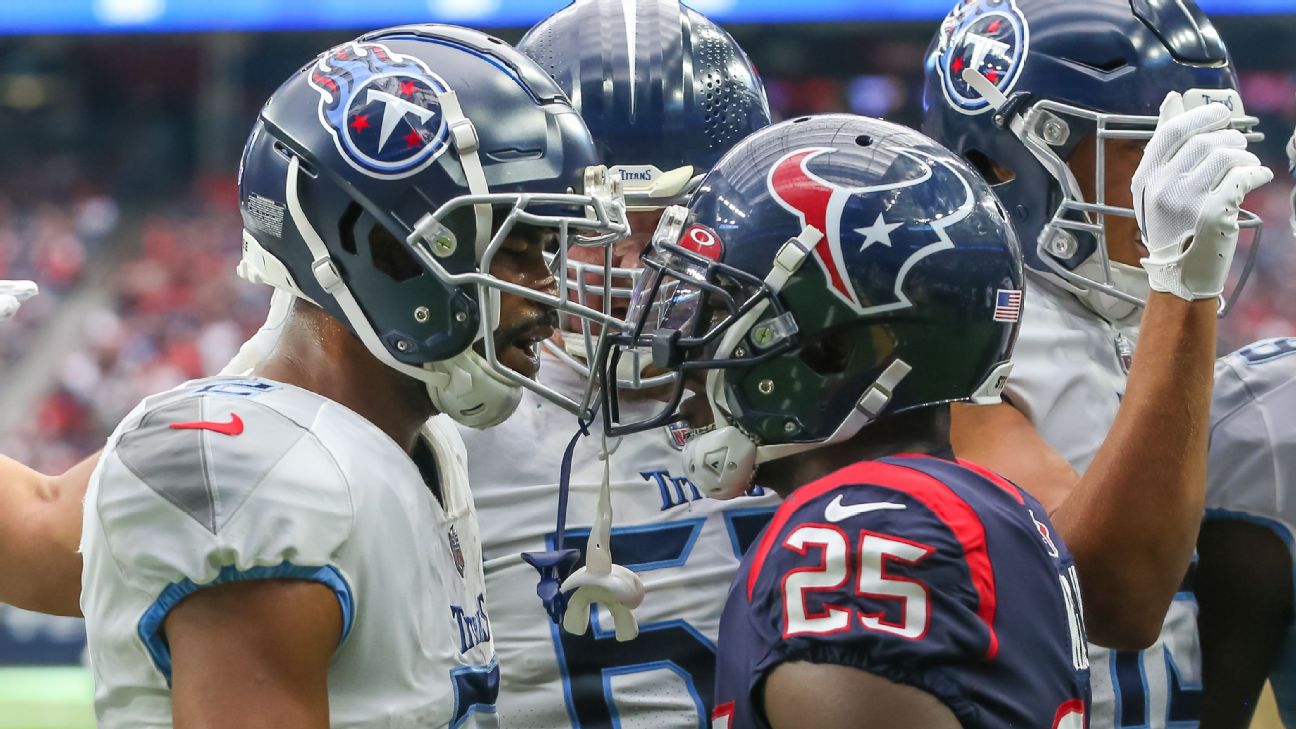
{"label": "white jersey of the player cut off at the right edge", "polygon": [[[1296,339],[1265,340],[1216,363],[1207,519],[1273,529],[1296,560]],[[1296,726],[1296,625],[1270,675],[1283,724]]]}

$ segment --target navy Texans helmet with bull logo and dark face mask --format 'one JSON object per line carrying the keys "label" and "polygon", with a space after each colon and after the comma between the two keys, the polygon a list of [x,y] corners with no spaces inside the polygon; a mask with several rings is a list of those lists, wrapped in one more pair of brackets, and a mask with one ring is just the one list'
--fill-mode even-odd
{"label": "navy Texans helmet with bull logo and dark face mask", "polygon": [[[758,463],[842,442],[893,414],[997,402],[1021,313],[1021,252],[989,185],[910,128],[846,114],[759,131],[721,160],[644,256],[626,329],[600,361],[609,432],[675,418],[705,374],[715,428],[687,476],[728,498]],[[616,359],[682,372],[622,420]]]}

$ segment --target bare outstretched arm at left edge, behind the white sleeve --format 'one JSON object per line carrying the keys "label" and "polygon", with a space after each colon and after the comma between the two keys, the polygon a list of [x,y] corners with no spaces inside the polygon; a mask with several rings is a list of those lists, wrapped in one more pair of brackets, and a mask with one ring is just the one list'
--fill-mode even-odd
{"label": "bare outstretched arm at left edge, behind the white sleeve", "polygon": [[0,602],[80,616],[82,502],[98,454],[58,476],[0,455]]}

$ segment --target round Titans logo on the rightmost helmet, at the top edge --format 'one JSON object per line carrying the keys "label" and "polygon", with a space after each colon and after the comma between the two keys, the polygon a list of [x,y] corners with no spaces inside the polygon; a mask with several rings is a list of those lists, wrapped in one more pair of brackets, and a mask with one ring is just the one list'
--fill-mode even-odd
{"label": "round Titans logo on the rightmost helmet, at the top edge", "polygon": [[945,100],[966,114],[990,104],[963,80],[973,69],[1004,95],[1012,91],[1030,48],[1030,27],[1016,0],[959,0],[941,25],[940,43],[928,64],[941,74]]}

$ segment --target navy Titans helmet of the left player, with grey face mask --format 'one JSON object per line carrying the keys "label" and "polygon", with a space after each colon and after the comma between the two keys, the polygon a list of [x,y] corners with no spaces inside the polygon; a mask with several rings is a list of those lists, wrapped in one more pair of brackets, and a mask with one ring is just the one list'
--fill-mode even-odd
{"label": "navy Titans helmet of the left player, with grey face mask", "polygon": [[579,306],[565,284],[542,293],[490,267],[517,226],[556,230],[559,261],[623,235],[619,184],[597,165],[562,91],[503,42],[434,25],[371,32],[262,110],[240,169],[240,272],[346,323],[461,423],[499,423],[521,387],[579,410],[503,364],[491,336],[502,294]]}

